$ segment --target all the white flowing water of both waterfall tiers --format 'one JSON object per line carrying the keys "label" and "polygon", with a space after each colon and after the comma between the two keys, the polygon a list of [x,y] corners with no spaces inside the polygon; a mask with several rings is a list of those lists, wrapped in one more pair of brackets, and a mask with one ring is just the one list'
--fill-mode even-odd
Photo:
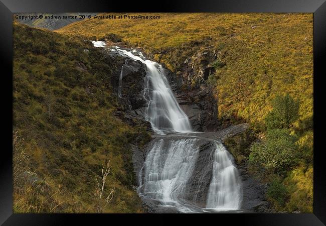
{"label": "all the white flowing water of both waterfall tiers", "polygon": [[[197,178],[199,182],[195,185],[192,184],[191,180],[196,176],[195,168],[201,166],[199,143],[203,138],[194,136],[189,119],[179,106],[161,65],[145,59],[136,50],[127,51],[119,47],[115,47],[115,50],[146,65],[143,97],[147,100],[147,108],[144,117],[150,122],[152,130],[162,135],[154,139],[147,150],[139,172],[139,195],[144,199],[157,200],[163,206],[173,206],[180,212],[240,209],[241,183],[238,172],[233,157],[220,142],[210,141],[211,154],[205,157],[204,165],[211,166],[209,185],[200,186],[207,174]],[[119,87],[121,82],[122,71]],[[176,134],[168,136],[169,133]],[[207,193],[204,204],[198,204],[197,195],[189,197],[189,191],[194,189],[196,194]]]}

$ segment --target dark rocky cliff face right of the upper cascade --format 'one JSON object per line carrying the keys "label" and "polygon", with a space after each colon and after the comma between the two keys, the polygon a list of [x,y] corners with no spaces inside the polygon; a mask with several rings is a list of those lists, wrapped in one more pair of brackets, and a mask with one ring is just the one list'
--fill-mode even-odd
{"label": "dark rocky cliff face right of the upper cascade", "polygon": [[215,72],[212,63],[219,58],[219,53],[207,47],[186,59],[182,72],[182,90],[178,92],[179,104],[188,115],[195,131],[217,131],[218,100],[213,87],[207,84],[208,76]]}

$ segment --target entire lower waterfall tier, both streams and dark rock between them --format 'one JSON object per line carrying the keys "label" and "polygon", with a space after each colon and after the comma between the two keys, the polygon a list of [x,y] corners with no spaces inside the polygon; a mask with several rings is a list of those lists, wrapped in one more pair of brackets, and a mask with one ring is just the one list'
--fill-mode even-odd
{"label": "entire lower waterfall tier, both streams and dark rock between them", "polygon": [[236,210],[241,182],[233,157],[214,140],[169,136],[148,146],[138,193],[181,212]]}

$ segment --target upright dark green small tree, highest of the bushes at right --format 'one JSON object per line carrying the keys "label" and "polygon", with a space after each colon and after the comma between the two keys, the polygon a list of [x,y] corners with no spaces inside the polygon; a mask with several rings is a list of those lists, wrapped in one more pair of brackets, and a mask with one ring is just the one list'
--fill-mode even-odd
{"label": "upright dark green small tree, highest of the bushes at right", "polygon": [[265,118],[267,130],[290,128],[298,119],[299,101],[293,100],[289,94],[276,96],[272,105],[273,110]]}

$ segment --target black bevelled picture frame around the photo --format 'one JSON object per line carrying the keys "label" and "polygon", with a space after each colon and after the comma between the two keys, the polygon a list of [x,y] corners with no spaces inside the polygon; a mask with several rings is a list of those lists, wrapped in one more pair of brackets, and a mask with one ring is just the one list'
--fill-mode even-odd
{"label": "black bevelled picture frame around the photo", "polygon": [[[61,13],[61,12],[223,12],[223,13],[313,13],[314,46],[313,46],[313,89],[314,89],[314,175],[313,175],[313,213],[244,213],[244,214],[174,214],[180,220],[209,223],[228,222],[240,225],[324,225],[326,224],[326,167],[322,158],[322,140],[324,125],[324,105],[321,94],[322,78],[326,75],[324,69],[326,50],[326,2],[325,0],[201,0],[201,1],[134,1],[109,2],[101,0],[1,0],[1,62],[2,66],[2,100],[3,122],[8,129],[3,133],[3,149],[0,157],[0,223],[3,225],[66,225],[76,223],[95,224],[98,220],[113,223],[119,218],[119,223],[133,220],[133,223],[161,224],[169,223],[167,216],[171,214],[13,214],[13,185],[12,185],[12,60],[13,60],[13,13]],[[4,70],[5,69],[5,70]],[[6,71],[6,72],[5,72]],[[4,102],[5,101],[5,102]],[[11,119],[11,120],[10,120]],[[11,124],[11,125],[10,125]],[[144,220],[142,217],[151,218]],[[193,221],[194,222],[194,221]]]}

